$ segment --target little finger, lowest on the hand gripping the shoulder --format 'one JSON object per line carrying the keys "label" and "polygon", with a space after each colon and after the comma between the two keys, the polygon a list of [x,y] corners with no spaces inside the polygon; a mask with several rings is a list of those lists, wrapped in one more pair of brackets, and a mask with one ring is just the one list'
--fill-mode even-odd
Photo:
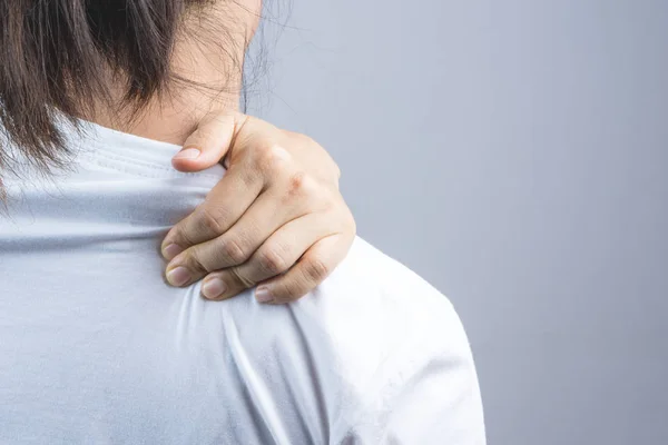
{"label": "little finger, lowest on the hand gripping the shoulder", "polygon": [[345,258],[354,234],[335,234],[314,244],[286,274],[255,289],[259,303],[285,304],[302,298],[330,276]]}

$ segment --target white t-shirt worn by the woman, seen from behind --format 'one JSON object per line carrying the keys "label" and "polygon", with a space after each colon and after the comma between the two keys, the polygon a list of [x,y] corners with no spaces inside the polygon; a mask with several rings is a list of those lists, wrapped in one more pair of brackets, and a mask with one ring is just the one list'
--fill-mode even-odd
{"label": "white t-shirt worn by the woman, seen from behind", "polygon": [[2,444],[484,444],[450,301],[357,238],[285,306],[166,284],[159,246],[222,178],[89,126],[0,216]]}

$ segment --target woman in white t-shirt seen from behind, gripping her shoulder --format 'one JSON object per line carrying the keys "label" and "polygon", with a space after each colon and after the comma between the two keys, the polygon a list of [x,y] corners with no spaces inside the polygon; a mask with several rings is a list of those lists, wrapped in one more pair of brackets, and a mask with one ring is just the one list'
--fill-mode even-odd
{"label": "woman in white t-shirt seen from behind, gripping her shoulder", "polygon": [[484,443],[441,294],[360,238],[314,288],[354,225],[235,111],[258,8],[0,1],[0,442]]}

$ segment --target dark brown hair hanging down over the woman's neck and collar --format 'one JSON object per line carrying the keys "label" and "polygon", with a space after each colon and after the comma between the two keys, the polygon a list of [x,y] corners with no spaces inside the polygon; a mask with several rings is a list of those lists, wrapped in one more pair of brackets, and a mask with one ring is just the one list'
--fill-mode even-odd
{"label": "dark brown hair hanging down over the woman's neck and collar", "polygon": [[174,75],[186,9],[210,3],[0,0],[0,174],[13,160],[6,144],[42,170],[61,167],[67,147],[57,117],[75,123],[96,103],[111,105],[110,80],[122,79],[122,106],[136,116]]}

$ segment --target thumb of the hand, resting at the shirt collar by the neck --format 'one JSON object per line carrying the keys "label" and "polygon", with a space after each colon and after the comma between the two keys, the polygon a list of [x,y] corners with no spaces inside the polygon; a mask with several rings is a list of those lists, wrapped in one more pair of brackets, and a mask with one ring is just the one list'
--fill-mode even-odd
{"label": "thumb of the hand, resting at the shirt collar by the neck", "polygon": [[229,151],[246,116],[237,111],[206,115],[188,136],[184,148],[171,158],[171,166],[186,172],[200,171],[218,164]]}

